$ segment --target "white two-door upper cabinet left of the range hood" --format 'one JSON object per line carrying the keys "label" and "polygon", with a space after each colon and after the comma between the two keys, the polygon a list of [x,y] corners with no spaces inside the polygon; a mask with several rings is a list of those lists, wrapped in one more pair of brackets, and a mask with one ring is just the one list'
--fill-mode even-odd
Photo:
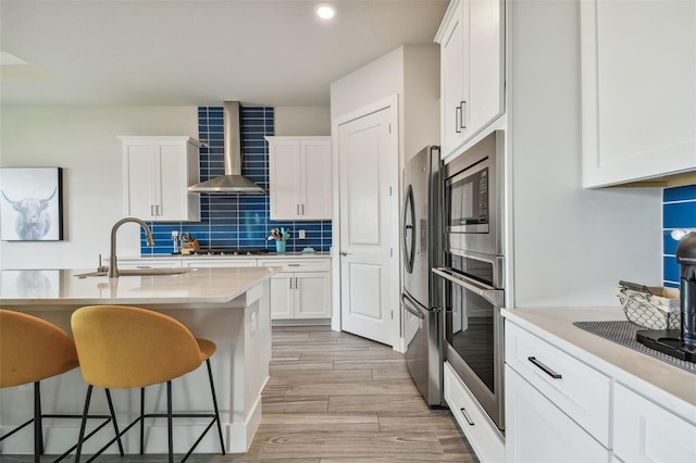
{"label": "white two-door upper cabinet left of the range hood", "polygon": [[151,222],[200,221],[199,143],[190,137],[119,137],[124,214]]}

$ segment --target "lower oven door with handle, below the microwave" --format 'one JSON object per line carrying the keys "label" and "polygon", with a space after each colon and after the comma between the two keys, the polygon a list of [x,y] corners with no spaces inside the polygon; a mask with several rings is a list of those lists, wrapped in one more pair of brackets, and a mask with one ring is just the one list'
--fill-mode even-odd
{"label": "lower oven door with handle, below the microwave", "polygon": [[490,420],[505,429],[502,315],[505,292],[452,268],[445,280],[444,356]]}

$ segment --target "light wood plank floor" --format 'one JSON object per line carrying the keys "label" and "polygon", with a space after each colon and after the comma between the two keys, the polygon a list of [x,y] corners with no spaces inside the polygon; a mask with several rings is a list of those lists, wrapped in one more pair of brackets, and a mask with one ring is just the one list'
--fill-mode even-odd
{"label": "light wood plank floor", "polygon": [[[3,463],[28,456],[2,458]],[[48,460],[47,460],[48,461]],[[70,460],[66,460],[70,461]],[[114,455],[107,463],[162,462]],[[477,462],[448,410],[431,410],[391,348],[328,327],[274,327],[263,416],[245,454],[222,462]]]}

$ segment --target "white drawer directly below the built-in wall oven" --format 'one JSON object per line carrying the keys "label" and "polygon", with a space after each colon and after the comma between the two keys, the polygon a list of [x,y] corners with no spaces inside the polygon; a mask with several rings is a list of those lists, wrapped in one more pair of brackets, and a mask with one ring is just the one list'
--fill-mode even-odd
{"label": "white drawer directly below the built-in wall oven", "polygon": [[445,362],[445,401],[482,462],[505,461],[505,441],[449,363]]}

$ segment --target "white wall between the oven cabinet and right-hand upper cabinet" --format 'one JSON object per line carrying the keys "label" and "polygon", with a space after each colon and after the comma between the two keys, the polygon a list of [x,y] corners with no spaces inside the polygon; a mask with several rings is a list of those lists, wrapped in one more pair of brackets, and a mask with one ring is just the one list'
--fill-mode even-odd
{"label": "white wall between the oven cabinet and right-hand upper cabinet", "polygon": [[660,189],[581,187],[577,2],[508,2],[514,305],[617,305],[661,286]]}

